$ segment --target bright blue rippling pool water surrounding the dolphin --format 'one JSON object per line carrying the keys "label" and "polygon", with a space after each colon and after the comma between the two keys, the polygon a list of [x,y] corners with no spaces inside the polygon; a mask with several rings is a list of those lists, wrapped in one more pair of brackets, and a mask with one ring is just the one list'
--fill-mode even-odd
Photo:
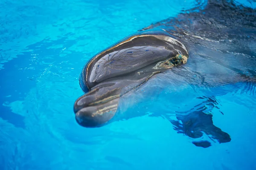
{"label": "bright blue rippling pool water surrounding the dolphin", "polygon": [[73,104],[83,94],[79,74],[91,57],[151,23],[206,5],[1,0],[0,170],[256,169],[255,90],[243,93],[245,85],[216,99],[213,122],[232,140],[208,148],[195,147],[161,116],[92,129],[74,119]]}

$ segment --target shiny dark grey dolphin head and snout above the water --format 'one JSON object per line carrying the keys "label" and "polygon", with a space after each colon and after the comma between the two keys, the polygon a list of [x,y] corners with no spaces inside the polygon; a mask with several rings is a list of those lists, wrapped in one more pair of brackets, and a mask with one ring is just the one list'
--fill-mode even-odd
{"label": "shiny dark grey dolphin head and snout above the water", "polygon": [[187,59],[186,47],[165,31],[133,35],[102,51],[81,73],[81,87],[90,92],[76,100],[77,122],[104,125],[115,115],[119,97]]}

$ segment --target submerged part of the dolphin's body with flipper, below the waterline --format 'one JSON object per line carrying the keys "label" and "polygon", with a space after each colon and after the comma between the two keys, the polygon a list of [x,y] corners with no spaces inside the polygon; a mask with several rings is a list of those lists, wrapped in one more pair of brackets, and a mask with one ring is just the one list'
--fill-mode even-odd
{"label": "submerged part of the dolphin's body with flipper, below the waterline", "polygon": [[[218,108],[218,96],[236,95],[237,89],[240,89],[239,93],[251,96],[256,93],[256,10],[233,1],[210,0],[200,11],[185,11],[175,18],[145,27],[139,34],[154,30],[161,30],[186,46],[189,58],[186,64],[161,70],[157,74],[150,72],[146,83],[143,80],[143,83],[129,84],[129,90],[118,96],[118,101],[117,98],[111,100],[118,107],[108,123],[142,115],[162,116],[173,124],[177,133],[189,136],[195,146],[209,147],[212,142],[230,142],[228,132],[214,125],[213,110],[224,114]],[[129,53],[136,53],[136,49]],[[182,56],[179,52],[177,55]],[[127,65],[124,63],[122,68]],[[134,67],[128,68],[136,70]],[[118,75],[118,78],[108,82],[122,81],[123,85],[127,75],[122,76]],[[98,85],[103,86],[102,91],[105,91],[108,84]],[[107,91],[115,91],[112,96],[119,95],[122,89],[113,87]],[[111,98],[106,93],[98,97],[100,102]]]}

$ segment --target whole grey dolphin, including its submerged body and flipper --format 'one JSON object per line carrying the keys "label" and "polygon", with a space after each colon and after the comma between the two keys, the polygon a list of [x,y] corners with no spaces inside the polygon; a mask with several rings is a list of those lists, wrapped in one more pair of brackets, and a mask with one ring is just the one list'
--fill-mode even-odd
{"label": "whole grey dolphin, including its submerged body and flipper", "polygon": [[76,121],[101,127],[162,116],[195,146],[230,142],[212,121],[215,96],[233,92],[239,83],[254,95],[255,38],[256,11],[225,0],[145,27],[84,66],[79,83],[85,94],[74,104]]}

